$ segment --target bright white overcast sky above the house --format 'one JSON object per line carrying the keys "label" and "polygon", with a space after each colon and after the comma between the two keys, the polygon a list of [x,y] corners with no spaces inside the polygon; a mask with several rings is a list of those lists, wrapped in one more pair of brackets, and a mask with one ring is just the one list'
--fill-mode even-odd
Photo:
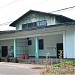
{"label": "bright white overcast sky above the house", "polygon": [[9,24],[30,9],[75,19],[75,8],[52,12],[72,6],[75,6],[75,0],[0,0],[0,31],[14,30]]}

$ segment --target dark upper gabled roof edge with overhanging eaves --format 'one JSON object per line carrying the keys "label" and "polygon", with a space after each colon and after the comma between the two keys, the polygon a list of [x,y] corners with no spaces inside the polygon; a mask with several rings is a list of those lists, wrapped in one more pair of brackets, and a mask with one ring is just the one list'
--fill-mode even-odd
{"label": "dark upper gabled roof edge with overhanging eaves", "polygon": [[68,20],[69,22],[75,22],[75,20],[73,20],[73,19],[71,19],[71,18],[68,18],[68,17],[65,17],[65,16],[63,16],[63,15],[58,15],[58,14],[53,14],[53,13],[47,13],[47,12],[42,12],[42,11],[36,11],[36,10],[29,10],[29,11],[26,12],[24,15],[22,15],[22,16],[19,17],[17,20],[15,20],[13,23],[11,23],[9,26],[15,27],[16,22],[17,22],[18,20],[20,20],[22,17],[24,17],[24,16],[26,16],[26,15],[28,15],[29,13],[32,13],[32,12],[35,12],[35,13],[37,12],[37,13],[46,14],[46,15],[53,15],[53,16],[59,17],[59,18],[61,18],[61,19],[66,19],[66,20]]}

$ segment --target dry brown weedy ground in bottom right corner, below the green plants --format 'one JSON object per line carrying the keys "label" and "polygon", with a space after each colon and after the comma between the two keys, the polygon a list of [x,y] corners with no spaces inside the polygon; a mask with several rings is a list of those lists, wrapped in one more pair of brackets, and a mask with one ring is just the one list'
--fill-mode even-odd
{"label": "dry brown weedy ground in bottom right corner, below the green plants", "polygon": [[67,64],[60,67],[48,66],[48,68],[42,72],[42,75],[75,75],[75,67]]}

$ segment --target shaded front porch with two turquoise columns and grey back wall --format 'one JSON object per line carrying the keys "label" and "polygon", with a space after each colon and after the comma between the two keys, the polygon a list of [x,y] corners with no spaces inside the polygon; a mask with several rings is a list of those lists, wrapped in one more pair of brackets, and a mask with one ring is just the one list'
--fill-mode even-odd
{"label": "shaded front porch with two turquoise columns and grey back wall", "polygon": [[[24,59],[24,54],[28,54],[29,59],[42,59],[46,58],[47,53],[50,54],[51,58],[58,58],[58,44],[63,44],[63,34],[61,33],[38,37],[0,40],[0,53],[2,57],[9,55],[10,57],[17,57],[20,59]],[[61,50],[61,48],[59,50]]]}

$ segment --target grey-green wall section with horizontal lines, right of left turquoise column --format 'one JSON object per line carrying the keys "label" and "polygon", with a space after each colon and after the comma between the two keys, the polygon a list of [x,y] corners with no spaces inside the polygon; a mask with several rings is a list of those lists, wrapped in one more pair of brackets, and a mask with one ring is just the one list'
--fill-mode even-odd
{"label": "grey-green wall section with horizontal lines, right of left turquoise column", "polygon": [[27,53],[28,47],[27,47],[27,40],[25,38],[23,39],[17,39],[17,57],[21,57],[23,54]]}

